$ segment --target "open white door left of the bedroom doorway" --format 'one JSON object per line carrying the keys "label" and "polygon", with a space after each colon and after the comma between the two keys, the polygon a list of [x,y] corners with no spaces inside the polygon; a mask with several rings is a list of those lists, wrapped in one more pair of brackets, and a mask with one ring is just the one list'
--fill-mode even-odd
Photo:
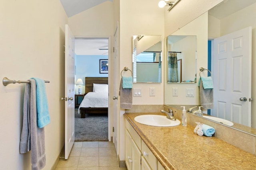
{"label": "open white door left of the bedroom doorway", "polygon": [[74,95],[75,95],[75,37],[65,25],[65,159],[68,159],[75,141]]}

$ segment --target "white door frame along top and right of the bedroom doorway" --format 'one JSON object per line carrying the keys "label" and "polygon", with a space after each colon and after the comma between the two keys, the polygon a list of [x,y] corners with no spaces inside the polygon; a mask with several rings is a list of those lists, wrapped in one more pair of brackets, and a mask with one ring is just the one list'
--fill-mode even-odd
{"label": "white door frame along top and right of the bedroom doorway", "polygon": [[[111,84],[111,35],[110,36],[76,36],[75,39],[108,39],[108,84]],[[76,44],[75,44],[76,46]],[[108,141],[111,141],[112,135],[112,112],[111,112],[111,105],[112,105],[112,89],[111,85],[108,86]]]}

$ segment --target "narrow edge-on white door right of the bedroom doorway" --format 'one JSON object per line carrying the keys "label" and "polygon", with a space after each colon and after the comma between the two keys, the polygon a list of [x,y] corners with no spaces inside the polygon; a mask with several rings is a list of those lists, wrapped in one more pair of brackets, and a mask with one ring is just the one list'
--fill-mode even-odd
{"label": "narrow edge-on white door right of the bedroom doorway", "polygon": [[118,27],[114,35],[114,107],[113,107],[113,143],[118,153],[118,92],[119,92],[119,71],[118,71]]}

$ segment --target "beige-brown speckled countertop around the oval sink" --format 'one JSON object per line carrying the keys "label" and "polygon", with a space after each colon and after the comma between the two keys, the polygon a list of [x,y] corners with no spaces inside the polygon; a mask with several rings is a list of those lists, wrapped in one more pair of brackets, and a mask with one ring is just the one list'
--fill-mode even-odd
{"label": "beige-brown speckled countertop around the oval sink", "polygon": [[256,156],[216,137],[198,136],[194,127],[153,127],[134,121],[143,114],[125,113],[134,127],[166,170],[254,170]]}

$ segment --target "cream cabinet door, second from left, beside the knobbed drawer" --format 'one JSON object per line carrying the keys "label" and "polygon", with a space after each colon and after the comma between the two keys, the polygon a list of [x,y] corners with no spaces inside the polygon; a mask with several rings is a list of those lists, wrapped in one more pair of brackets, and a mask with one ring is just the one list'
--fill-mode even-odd
{"label": "cream cabinet door, second from left, beside the knobbed drawer", "polygon": [[132,139],[132,170],[140,170],[140,158],[142,154]]}

